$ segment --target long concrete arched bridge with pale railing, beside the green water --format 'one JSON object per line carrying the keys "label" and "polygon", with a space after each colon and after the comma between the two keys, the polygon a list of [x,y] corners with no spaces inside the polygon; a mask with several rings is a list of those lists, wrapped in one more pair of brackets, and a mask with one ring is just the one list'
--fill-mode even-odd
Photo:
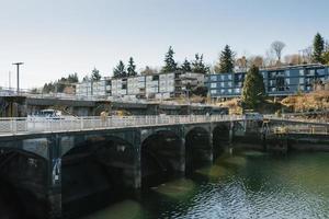
{"label": "long concrete arched bridge with pale railing, beside the green water", "polygon": [[148,187],[211,163],[261,123],[228,115],[1,118],[0,175],[27,214],[61,218],[80,208],[77,199]]}

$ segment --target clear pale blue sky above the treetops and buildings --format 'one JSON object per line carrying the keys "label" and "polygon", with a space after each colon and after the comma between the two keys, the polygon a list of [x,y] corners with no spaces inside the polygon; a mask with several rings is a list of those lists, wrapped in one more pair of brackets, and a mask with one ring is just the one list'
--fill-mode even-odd
{"label": "clear pale blue sky above the treetops and buildings", "polygon": [[134,57],[137,69],[161,67],[169,46],[175,59],[204,54],[214,65],[230,45],[237,56],[265,55],[273,41],[283,56],[329,38],[328,0],[0,0],[0,87],[42,87],[95,67],[112,76]]}

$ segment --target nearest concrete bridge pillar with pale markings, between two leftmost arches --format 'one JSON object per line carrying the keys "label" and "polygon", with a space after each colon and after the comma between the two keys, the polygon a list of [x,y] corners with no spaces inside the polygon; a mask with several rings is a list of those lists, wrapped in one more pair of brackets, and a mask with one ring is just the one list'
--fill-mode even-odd
{"label": "nearest concrete bridge pillar with pale markings, between two leftmost arches", "polygon": [[61,218],[61,158],[60,136],[53,135],[48,139],[48,219]]}

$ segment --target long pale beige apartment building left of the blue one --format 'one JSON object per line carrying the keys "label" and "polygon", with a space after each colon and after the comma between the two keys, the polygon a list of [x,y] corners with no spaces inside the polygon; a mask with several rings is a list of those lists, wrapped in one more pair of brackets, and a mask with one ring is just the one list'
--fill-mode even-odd
{"label": "long pale beige apartment building left of the blue one", "polygon": [[198,85],[204,85],[204,74],[195,72],[169,72],[128,78],[106,78],[98,82],[83,81],[77,84],[77,95],[107,95],[125,99],[171,99],[189,95]]}

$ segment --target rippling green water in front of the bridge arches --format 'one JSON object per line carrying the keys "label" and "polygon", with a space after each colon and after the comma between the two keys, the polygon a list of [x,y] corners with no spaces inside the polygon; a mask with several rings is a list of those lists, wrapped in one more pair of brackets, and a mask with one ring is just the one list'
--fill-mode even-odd
{"label": "rippling green water in front of the bridge arches", "polygon": [[329,218],[329,153],[235,153],[83,219],[154,218]]}

